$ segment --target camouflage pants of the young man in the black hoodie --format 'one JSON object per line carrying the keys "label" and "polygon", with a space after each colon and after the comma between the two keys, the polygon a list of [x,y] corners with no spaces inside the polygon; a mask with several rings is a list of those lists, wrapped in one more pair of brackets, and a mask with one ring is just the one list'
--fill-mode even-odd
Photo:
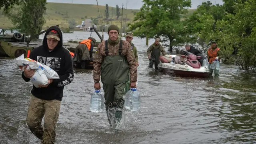
{"label": "camouflage pants of the young man in the black hoodie", "polygon": [[[30,131],[42,140],[41,144],[54,144],[55,128],[60,113],[59,100],[42,100],[32,96],[26,122]],[[41,122],[44,117],[44,129]]]}

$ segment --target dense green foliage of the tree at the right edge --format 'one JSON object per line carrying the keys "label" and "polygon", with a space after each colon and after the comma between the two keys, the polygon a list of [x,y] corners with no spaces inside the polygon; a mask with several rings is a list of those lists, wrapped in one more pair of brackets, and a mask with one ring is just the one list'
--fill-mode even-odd
{"label": "dense green foliage of the tree at the right edge", "polygon": [[256,1],[223,2],[222,6],[209,1],[198,6],[187,19],[188,29],[198,36],[202,46],[217,41],[224,52],[224,62],[236,62],[241,69],[252,70],[256,68]]}

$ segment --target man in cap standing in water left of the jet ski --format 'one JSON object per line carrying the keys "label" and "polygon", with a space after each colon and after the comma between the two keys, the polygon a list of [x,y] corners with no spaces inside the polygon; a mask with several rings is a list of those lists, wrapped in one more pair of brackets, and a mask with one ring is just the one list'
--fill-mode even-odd
{"label": "man in cap standing in water left of the jet ski", "polygon": [[164,50],[164,47],[160,44],[161,39],[156,38],[154,44],[148,47],[147,54],[149,58],[149,68],[153,68],[153,64],[155,64],[155,69],[158,70],[158,64],[159,64],[159,57],[160,53],[162,52],[163,55],[166,55],[166,51]]}

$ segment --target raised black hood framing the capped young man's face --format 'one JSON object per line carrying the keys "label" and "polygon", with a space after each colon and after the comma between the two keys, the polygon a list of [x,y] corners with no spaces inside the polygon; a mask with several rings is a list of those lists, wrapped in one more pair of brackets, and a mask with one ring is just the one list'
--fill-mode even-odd
{"label": "raised black hood framing the capped young man's face", "polygon": [[[53,32],[51,32],[52,30],[56,30],[58,32],[58,34],[52,34]],[[50,33],[51,36],[49,36],[48,34]],[[47,36],[48,35],[48,36]],[[57,37],[56,37],[57,36]],[[48,50],[48,45],[47,45],[47,38],[59,38],[59,42],[58,45],[54,48],[54,50],[59,49],[62,47],[63,44],[63,40],[62,40],[62,32],[60,30],[60,28],[58,26],[51,26],[50,28],[48,28],[48,30],[45,32],[44,35],[44,40],[43,40],[43,48],[45,48],[46,50]]]}

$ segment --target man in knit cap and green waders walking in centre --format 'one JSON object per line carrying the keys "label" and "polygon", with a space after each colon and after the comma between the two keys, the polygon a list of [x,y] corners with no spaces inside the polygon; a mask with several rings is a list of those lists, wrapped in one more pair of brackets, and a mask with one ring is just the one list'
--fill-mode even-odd
{"label": "man in knit cap and green waders walking in centre", "polygon": [[[103,83],[104,98],[108,122],[110,126],[122,118],[124,107],[124,88],[129,81],[130,87],[136,88],[137,65],[132,56],[130,43],[118,38],[119,28],[115,25],[108,27],[108,40],[98,45],[94,55],[94,88],[100,90],[100,77]],[[112,116],[115,116],[114,122]]]}

